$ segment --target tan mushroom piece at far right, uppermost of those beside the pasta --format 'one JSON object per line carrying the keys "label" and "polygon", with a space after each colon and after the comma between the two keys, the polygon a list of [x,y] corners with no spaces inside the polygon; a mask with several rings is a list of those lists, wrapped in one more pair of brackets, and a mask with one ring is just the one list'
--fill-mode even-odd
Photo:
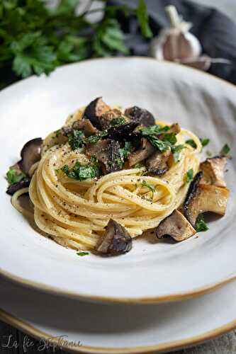
{"label": "tan mushroom piece at far right, uppermost of those beside the pasta", "polygon": [[202,162],[200,164],[200,169],[203,171],[201,183],[226,187],[224,180],[224,168],[226,163],[226,156],[215,156]]}

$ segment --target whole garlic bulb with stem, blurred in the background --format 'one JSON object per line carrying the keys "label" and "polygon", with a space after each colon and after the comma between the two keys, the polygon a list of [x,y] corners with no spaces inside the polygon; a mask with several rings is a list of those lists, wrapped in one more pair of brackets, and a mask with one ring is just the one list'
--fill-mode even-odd
{"label": "whole garlic bulb with stem, blurred in the background", "polygon": [[201,44],[195,35],[189,32],[191,23],[183,21],[175,6],[165,7],[171,23],[170,28],[161,30],[150,44],[150,55],[159,60],[181,61],[201,55]]}

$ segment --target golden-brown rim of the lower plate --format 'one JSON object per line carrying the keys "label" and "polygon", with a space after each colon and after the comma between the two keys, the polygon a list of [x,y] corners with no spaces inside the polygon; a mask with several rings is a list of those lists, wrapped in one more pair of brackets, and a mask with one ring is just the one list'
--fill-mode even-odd
{"label": "golden-brown rim of the lower plate", "polygon": [[[27,333],[29,336],[33,336],[33,338],[40,340],[42,338],[51,338],[52,335],[41,331],[36,326],[29,324],[27,321],[23,319],[19,319],[16,316],[13,316],[9,312],[6,312],[4,309],[0,308],[0,320],[9,324],[10,326],[15,326],[17,329]],[[89,353],[89,354],[104,354],[104,353],[117,353],[117,354],[147,354],[147,353],[166,353],[167,350],[179,350],[188,348],[190,346],[195,346],[197,344],[201,344],[205,341],[209,341],[210,339],[214,339],[218,336],[222,336],[223,334],[236,329],[236,319],[227,322],[223,326],[217,327],[210,331],[203,332],[198,336],[192,336],[189,338],[184,338],[178,341],[170,341],[162,344],[157,344],[153,346],[137,346],[137,347],[124,347],[124,348],[106,348],[106,347],[94,347],[94,346],[66,346],[61,343],[61,347],[63,350],[66,350],[70,353]]]}

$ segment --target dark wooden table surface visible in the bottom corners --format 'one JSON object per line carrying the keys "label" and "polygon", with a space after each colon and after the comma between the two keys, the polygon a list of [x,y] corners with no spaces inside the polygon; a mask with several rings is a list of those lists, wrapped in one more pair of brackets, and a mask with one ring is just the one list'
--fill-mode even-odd
{"label": "dark wooden table surface visible in the bottom corners", "polygon": [[[13,341],[17,341],[18,348],[3,348],[6,344],[6,338],[12,335]],[[38,348],[39,343],[32,337],[29,337],[33,341],[33,346],[27,348],[26,352],[23,351],[23,338],[27,336],[25,333],[18,331],[18,329],[9,326],[0,321],[0,353],[2,354],[35,354],[35,353],[53,353],[52,349],[45,349],[42,351],[37,351],[35,348]],[[67,354],[64,350],[57,349],[55,353],[58,354]],[[214,339],[213,341],[208,341],[201,345],[198,345],[193,348],[188,348],[184,350],[178,350],[176,354],[233,354],[236,353],[236,330],[231,331],[230,333],[225,334],[219,338]]]}

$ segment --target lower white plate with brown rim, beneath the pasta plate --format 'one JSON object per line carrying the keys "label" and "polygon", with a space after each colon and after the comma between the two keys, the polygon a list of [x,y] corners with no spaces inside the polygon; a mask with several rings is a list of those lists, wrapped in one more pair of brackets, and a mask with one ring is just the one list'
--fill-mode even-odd
{"label": "lower white plate with brown rim, beneath the pasta plate", "polygon": [[[62,336],[69,342],[60,342],[64,349],[82,353],[163,353],[236,327],[236,282],[184,302],[138,306],[89,304],[28,290],[1,277],[0,287],[1,320],[35,338]],[[82,346],[72,345],[79,342]],[[33,348],[38,353],[36,344]]]}

